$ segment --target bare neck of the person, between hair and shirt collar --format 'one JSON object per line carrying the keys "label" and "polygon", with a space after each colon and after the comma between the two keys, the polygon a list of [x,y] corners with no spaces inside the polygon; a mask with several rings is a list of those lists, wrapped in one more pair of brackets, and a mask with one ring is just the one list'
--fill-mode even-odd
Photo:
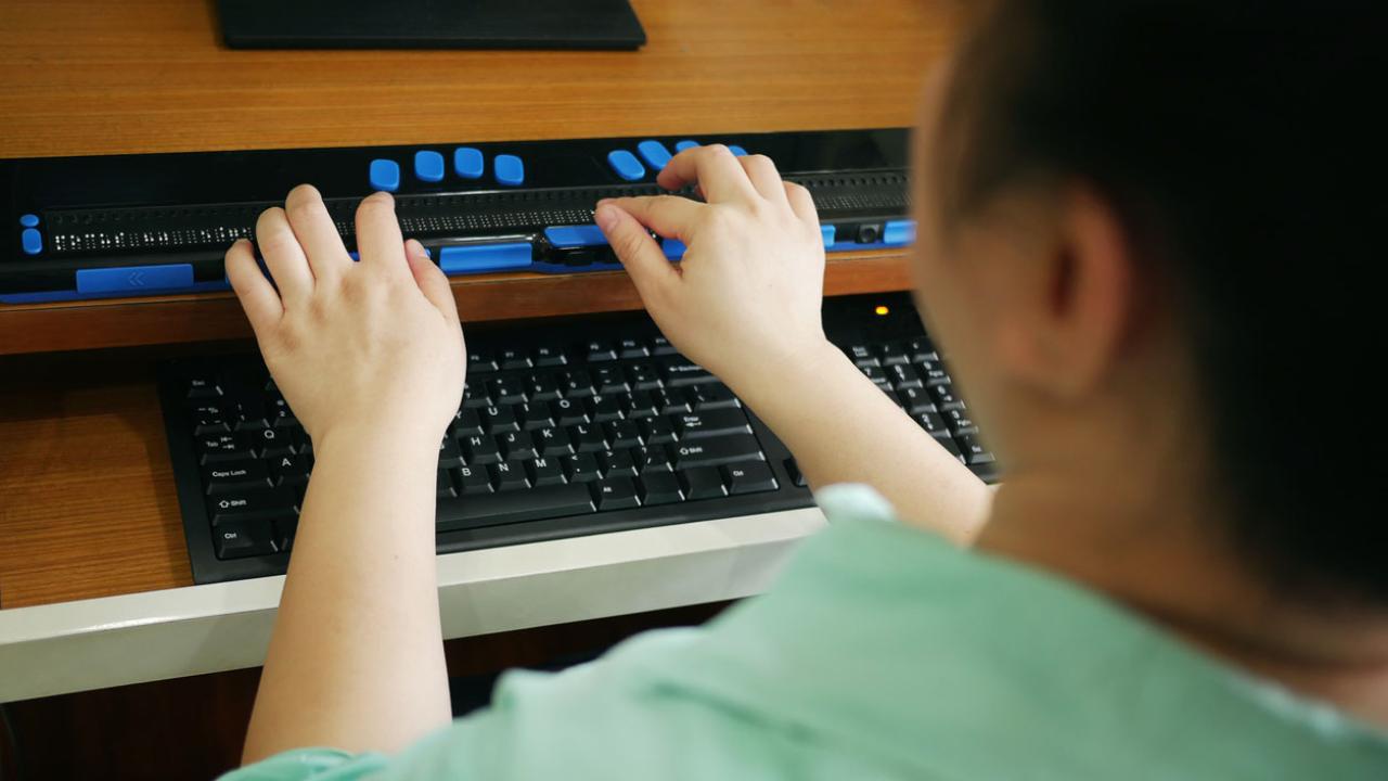
{"label": "bare neck of the person, between hair and shirt collar", "polygon": [[1208,531],[1220,518],[1192,504],[1208,496],[1196,481],[1144,481],[1131,459],[1087,452],[1085,463],[1010,475],[979,548],[1078,581],[1234,667],[1388,727],[1388,613],[1273,593]]}

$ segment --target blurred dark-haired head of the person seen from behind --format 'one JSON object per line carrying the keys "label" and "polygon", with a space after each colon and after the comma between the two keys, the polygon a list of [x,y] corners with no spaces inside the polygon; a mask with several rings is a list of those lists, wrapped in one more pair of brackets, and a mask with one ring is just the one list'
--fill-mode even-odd
{"label": "blurred dark-haired head of the person seen from behind", "polygon": [[915,272],[1013,474],[1181,475],[1269,584],[1385,607],[1374,6],[999,0],[927,96]]}

